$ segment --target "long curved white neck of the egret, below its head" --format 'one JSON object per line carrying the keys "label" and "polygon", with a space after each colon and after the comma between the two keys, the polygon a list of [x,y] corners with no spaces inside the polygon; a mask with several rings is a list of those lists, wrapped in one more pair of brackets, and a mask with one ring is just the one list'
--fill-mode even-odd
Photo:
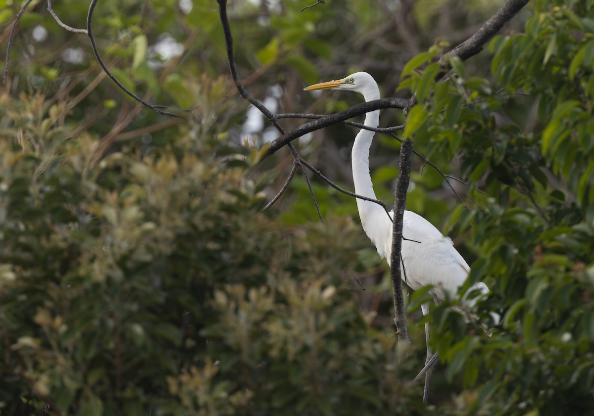
{"label": "long curved white neck of the egret, below its head", "polygon": [[[380,91],[371,91],[364,94],[365,101],[377,100],[380,98]],[[380,121],[380,110],[367,113],[365,116],[365,125],[376,128]],[[375,132],[362,129],[355,137],[355,144],[352,151],[353,182],[355,183],[355,193],[375,198],[371,175],[369,174],[369,148]],[[381,256],[388,256],[388,247],[384,244],[386,233],[390,233],[391,221],[380,205],[375,202],[357,199],[359,208],[359,217],[361,224],[369,239],[375,244]]]}

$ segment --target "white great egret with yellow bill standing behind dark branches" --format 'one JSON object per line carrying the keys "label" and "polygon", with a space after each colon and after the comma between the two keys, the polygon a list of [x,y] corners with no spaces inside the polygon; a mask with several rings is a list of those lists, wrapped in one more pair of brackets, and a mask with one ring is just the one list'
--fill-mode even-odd
{"label": "white great egret with yellow bill standing behind dark branches", "polygon": [[[380,89],[374,78],[367,72],[355,72],[342,80],[321,82],[304,88],[312,90],[346,90],[363,94],[365,101],[380,99]],[[376,128],[380,120],[380,110],[369,112],[365,116],[365,125]],[[369,147],[374,132],[361,129],[355,137],[352,150],[353,182],[355,193],[375,198],[371,176],[369,175]],[[357,199],[357,207],[361,224],[371,242],[377,247],[381,257],[386,257],[390,263],[392,247],[392,223],[387,217],[384,208],[375,202]],[[394,216],[394,212],[390,212]],[[443,300],[446,296],[456,296],[460,286],[466,281],[470,266],[454,248],[448,237],[429,221],[412,211],[405,211],[403,218],[402,235],[402,280],[413,290],[425,285],[433,285],[432,296]],[[406,276],[406,278],[405,278]],[[489,289],[483,282],[478,282],[471,288],[479,290],[481,294],[488,293]],[[426,315],[429,312],[429,303],[421,307]],[[429,341],[429,326],[425,325],[425,335]],[[427,347],[427,359],[431,355]],[[427,373],[429,376],[429,373]],[[429,376],[430,377],[430,376]],[[428,379],[425,380],[428,390]],[[426,400],[426,397],[424,397]]]}

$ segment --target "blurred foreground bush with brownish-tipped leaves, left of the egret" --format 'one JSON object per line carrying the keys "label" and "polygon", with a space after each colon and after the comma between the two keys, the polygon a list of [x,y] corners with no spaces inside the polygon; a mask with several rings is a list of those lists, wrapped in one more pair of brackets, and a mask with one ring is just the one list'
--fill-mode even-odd
{"label": "blurred foreground bush with brownish-tipped leaves, left of the egret", "polygon": [[93,167],[86,135],[3,142],[3,414],[405,406],[394,338],[369,331],[336,267],[358,267],[352,220],[274,231],[255,153],[177,137]]}

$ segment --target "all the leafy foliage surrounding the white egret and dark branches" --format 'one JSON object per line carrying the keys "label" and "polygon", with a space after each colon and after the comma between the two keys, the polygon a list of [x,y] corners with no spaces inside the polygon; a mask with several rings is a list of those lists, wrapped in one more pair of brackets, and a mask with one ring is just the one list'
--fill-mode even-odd
{"label": "all the leafy foliage surrounding the white egret and dark branches", "polygon": [[[594,408],[591,1],[531,3],[480,55],[451,59],[441,82],[448,44],[499,5],[229,4],[239,71],[268,106],[311,112],[304,84],[368,71],[384,96],[417,94],[407,135],[467,181],[457,188],[465,207],[414,160],[409,209],[459,236],[469,284],[492,291],[476,315],[495,326],[488,336],[455,301],[432,308],[441,363],[428,408],[409,383],[424,362],[426,291],[409,298],[413,343],[399,350],[387,268],[352,198],[312,179],[321,224],[298,172],[260,212],[292,158],[256,164],[248,144],[275,134],[244,123],[248,106],[221,75],[216,2],[99,3],[94,28],[113,74],[151,103],[191,110],[176,120],[122,98],[86,37],[60,28],[44,2],[23,15],[0,94],[0,415]],[[1,5],[8,34],[20,5]],[[84,2],[53,6],[84,26]],[[160,55],[163,43],[180,54]],[[316,104],[331,112],[355,100]],[[381,120],[404,118],[383,110]],[[350,188],[352,128],[318,133],[298,150]],[[399,144],[376,142],[372,176],[391,201]]]}

